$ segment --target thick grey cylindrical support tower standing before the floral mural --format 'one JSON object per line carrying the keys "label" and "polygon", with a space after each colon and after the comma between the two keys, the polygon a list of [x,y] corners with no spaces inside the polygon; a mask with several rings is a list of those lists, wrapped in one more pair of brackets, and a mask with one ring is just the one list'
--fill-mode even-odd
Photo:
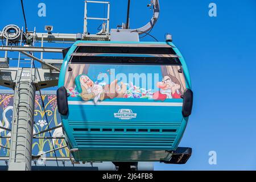
{"label": "thick grey cylindrical support tower standing before the floral mural", "polygon": [[[36,88],[30,68],[20,68],[15,86],[9,171],[31,171]],[[31,80],[32,79],[32,80]]]}

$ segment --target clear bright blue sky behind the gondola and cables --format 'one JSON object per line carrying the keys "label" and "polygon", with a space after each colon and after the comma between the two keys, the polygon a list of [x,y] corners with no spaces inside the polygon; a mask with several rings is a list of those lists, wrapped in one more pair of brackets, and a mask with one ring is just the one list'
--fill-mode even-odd
{"label": "clear bright blue sky behind the gondola and cables", "polygon": [[[46,3],[47,16],[38,16],[38,4]],[[126,0],[112,0],[110,24],[126,20]],[[137,28],[151,18],[149,1],[131,0],[130,25]],[[208,5],[217,4],[217,17]],[[20,3],[2,1],[0,29],[7,24],[23,26]],[[83,1],[24,0],[29,30],[82,32]],[[99,14],[98,14],[99,13]],[[97,15],[98,14],[98,15]],[[90,16],[103,16],[92,6]],[[90,23],[97,28],[101,22]],[[160,0],[160,19],[151,34],[164,40],[170,32],[183,53],[195,93],[193,113],[180,146],[192,147],[193,155],[183,166],[155,164],[162,170],[256,169],[256,1],[255,0]],[[152,40],[149,36],[143,41]],[[65,45],[63,45],[65,46]],[[217,165],[209,165],[208,152],[217,152]]]}

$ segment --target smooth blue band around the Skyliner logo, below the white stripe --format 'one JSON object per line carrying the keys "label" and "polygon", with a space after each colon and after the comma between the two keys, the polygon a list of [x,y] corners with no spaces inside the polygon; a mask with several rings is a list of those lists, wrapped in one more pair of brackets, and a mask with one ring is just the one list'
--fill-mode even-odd
{"label": "smooth blue band around the Skyliner logo, below the white stripe", "polygon": [[[69,121],[105,121],[121,122],[118,118],[120,109],[130,109],[135,118],[130,122],[180,122],[182,107],[166,106],[102,106],[102,105],[69,105]],[[114,116],[115,114],[115,116]]]}

